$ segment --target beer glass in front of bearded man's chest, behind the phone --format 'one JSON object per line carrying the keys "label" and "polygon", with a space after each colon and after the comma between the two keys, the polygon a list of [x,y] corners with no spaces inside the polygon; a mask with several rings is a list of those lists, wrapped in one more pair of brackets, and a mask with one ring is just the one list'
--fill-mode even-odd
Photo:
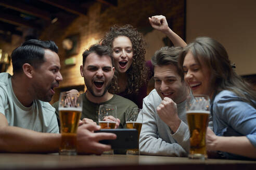
{"label": "beer glass in front of bearded man's chest, behind the phone", "polygon": [[[116,105],[100,105],[99,106],[99,125],[100,129],[114,129],[117,122],[117,106]],[[103,154],[113,154],[113,149],[105,151]]]}

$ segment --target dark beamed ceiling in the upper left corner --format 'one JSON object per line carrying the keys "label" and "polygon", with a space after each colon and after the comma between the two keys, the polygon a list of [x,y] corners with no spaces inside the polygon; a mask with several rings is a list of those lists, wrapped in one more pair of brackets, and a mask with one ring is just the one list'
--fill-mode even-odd
{"label": "dark beamed ceiling in the upper left corner", "polygon": [[12,34],[23,36],[26,29],[37,38],[49,24],[86,16],[94,3],[101,3],[102,9],[117,6],[117,0],[0,0],[0,38],[8,41]]}

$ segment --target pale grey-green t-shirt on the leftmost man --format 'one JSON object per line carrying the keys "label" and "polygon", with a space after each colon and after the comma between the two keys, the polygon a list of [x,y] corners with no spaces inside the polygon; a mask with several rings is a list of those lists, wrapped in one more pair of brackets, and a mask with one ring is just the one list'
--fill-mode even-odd
{"label": "pale grey-green t-shirt on the leftmost man", "polygon": [[0,114],[5,115],[9,126],[59,133],[55,108],[40,100],[34,100],[30,107],[23,106],[12,90],[11,75],[8,73],[0,73]]}

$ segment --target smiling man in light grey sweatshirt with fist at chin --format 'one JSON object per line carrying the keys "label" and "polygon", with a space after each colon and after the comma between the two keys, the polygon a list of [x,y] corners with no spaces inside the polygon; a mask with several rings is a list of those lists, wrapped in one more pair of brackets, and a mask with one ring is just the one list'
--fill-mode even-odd
{"label": "smiling man in light grey sweatshirt with fist at chin", "polygon": [[185,103],[190,94],[183,72],[178,68],[181,47],[156,51],[155,89],[143,100],[143,126],[139,147],[142,154],[184,157],[189,150]]}

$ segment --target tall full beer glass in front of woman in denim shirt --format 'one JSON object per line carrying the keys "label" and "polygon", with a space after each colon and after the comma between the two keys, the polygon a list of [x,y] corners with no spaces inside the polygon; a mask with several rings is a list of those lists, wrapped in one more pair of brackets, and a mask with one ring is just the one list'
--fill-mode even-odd
{"label": "tall full beer glass in front of woman in denim shirt", "polygon": [[188,158],[207,159],[206,130],[209,121],[209,96],[194,95],[187,98],[186,115],[190,132],[190,150]]}

